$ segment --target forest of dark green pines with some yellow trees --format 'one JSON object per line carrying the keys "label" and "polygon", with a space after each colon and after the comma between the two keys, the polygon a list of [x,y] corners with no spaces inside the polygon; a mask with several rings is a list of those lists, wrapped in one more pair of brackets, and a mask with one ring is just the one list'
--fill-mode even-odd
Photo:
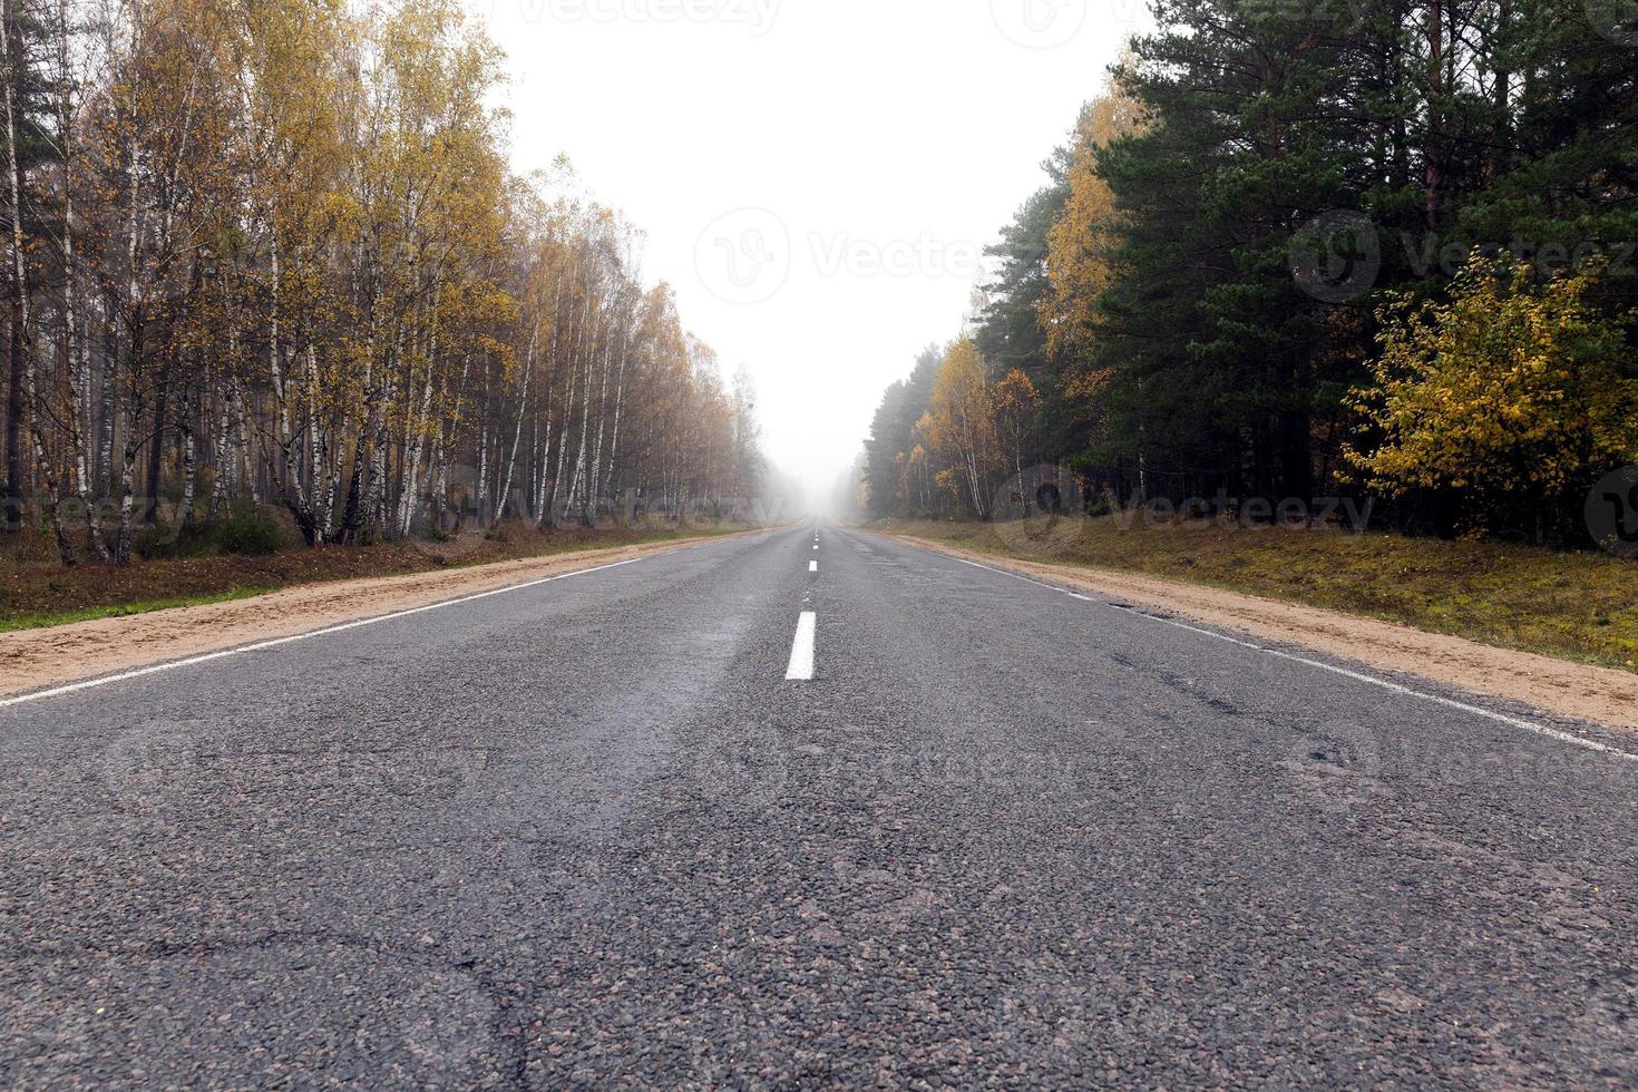
{"label": "forest of dark green pines with some yellow trees", "polygon": [[986,519],[1057,465],[1096,511],[1346,496],[1590,545],[1589,490],[1638,463],[1631,5],[1152,11],[885,393],[863,506]]}

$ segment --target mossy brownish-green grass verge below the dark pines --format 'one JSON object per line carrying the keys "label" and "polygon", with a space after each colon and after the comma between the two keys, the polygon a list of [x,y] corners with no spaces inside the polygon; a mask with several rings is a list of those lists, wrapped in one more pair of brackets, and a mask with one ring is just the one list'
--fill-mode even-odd
{"label": "mossy brownish-green grass verge below the dark pines", "polygon": [[1494,542],[1088,519],[1050,557],[993,524],[885,521],[894,534],[1125,570],[1404,622],[1502,648],[1638,670],[1638,563]]}

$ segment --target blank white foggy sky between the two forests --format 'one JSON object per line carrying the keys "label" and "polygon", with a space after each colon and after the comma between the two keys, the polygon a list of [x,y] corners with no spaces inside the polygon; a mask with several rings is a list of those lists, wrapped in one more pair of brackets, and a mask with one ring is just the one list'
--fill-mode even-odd
{"label": "blank white foggy sky between the two forests", "polygon": [[[762,398],[809,498],[881,388],[960,332],[1142,0],[465,0],[509,56],[519,172],[567,154],[645,280]],[[750,210],[750,211],[747,211]],[[732,264],[731,264],[732,262]]]}

